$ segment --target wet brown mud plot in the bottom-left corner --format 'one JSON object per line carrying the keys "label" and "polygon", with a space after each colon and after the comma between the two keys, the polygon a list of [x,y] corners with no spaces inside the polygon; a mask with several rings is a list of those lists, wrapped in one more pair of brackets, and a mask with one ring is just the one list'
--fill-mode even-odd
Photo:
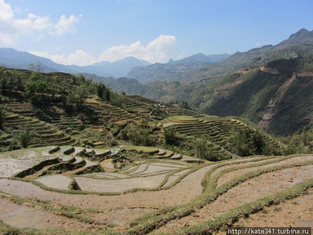
{"label": "wet brown mud plot in the bottom-left corner", "polygon": [[16,205],[3,198],[0,198],[0,211],[0,220],[17,228],[84,230],[91,227],[90,224],[76,219],[69,219],[36,207]]}

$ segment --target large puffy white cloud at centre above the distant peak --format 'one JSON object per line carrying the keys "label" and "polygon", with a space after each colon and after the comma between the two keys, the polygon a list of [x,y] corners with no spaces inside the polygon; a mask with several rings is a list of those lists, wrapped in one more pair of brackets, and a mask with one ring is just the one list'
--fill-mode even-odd
{"label": "large puffy white cloud at centre above the distant peak", "polygon": [[126,56],[134,56],[137,59],[147,60],[151,63],[166,62],[169,57],[168,49],[176,43],[174,35],[160,35],[145,47],[137,41],[129,46],[120,45],[110,47],[99,56],[98,61],[116,61]]}

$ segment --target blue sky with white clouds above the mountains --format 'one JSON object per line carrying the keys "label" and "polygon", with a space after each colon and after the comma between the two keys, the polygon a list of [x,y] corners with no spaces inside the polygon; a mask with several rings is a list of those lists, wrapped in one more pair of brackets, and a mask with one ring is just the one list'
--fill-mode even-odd
{"label": "blue sky with white clouds above the mountains", "polygon": [[0,47],[86,66],[235,53],[313,30],[313,0],[0,0]]}

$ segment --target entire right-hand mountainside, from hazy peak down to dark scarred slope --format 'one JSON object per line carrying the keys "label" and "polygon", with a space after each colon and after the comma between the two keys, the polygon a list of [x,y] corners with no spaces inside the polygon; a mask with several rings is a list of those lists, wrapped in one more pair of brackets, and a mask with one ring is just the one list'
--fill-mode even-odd
{"label": "entire right-hand mountainside, from hazy peak down to dark scarred slope", "polygon": [[217,64],[153,64],[130,74],[136,79],[93,78],[104,79],[118,92],[188,101],[209,115],[248,118],[278,135],[313,124],[313,31],[306,29],[275,46],[237,52]]}

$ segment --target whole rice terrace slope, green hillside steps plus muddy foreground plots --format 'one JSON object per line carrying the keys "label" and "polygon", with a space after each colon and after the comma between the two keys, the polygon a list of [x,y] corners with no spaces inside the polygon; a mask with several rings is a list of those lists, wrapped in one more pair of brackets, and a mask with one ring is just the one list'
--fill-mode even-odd
{"label": "whole rice terrace slope, green hillside steps plus muddy foreground plots", "polygon": [[[31,71],[21,75],[32,79]],[[42,75],[77,85],[70,74]],[[137,95],[122,96],[118,107],[116,100],[89,94],[83,108],[70,113],[58,100],[32,107],[22,93],[1,98],[8,109],[0,130],[1,151],[7,151],[0,153],[0,234],[204,235],[224,234],[227,226],[313,227],[313,156],[239,157],[229,147],[234,130],[255,131],[242,121]],[[164,143],[160,127],[174,127],[174,145]],[[151,139],[144,144],[153,147],[130,145],[124,130]],[[22,147],[20,131],[34,134],[29,148],[8,151]],[[282,152],[268,134],[260,138]],[[207,159],[224,161],[192,157],[199,140],[205,140]]]}

